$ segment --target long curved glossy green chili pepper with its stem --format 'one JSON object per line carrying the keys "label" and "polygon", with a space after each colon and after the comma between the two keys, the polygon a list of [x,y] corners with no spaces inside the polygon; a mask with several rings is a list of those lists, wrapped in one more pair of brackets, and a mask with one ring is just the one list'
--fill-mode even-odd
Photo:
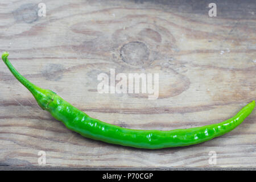
{"label": "long curved glossy green chili pepper with its stem", "polygon": [[16,71],[7,56],[9,56],[9,53],[4,52],[2,55],[3,61],[11,73],[30,90],[42,109],[49,111],[55,119],[63,122],[68,129],[76,131],[84,137],[122,146],[156,149],[189,146],[205,142],[236,128],[255,107],[255,101],[252,101],[233,118],[221,123],[192,129],[170,131],[125,129],[90,118],[87,114],[63,100],[55,92],[32,84]]}

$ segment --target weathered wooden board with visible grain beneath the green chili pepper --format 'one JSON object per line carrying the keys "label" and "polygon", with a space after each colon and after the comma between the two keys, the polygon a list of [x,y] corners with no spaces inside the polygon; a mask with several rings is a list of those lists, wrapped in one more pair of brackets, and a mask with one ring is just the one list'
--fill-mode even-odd
{"label": "weathered wooden board with visible grain beneath the green chili pepper", "polygon": [[[46,4],[39,17],[38,3]],[[131,129],[218,123],[255,100],[254,1],[1,1],[0,51],[36,85]],[[100,94],[97,75],[159,73],[159,98]],[[0,168],[255,168],[256,110],[189,147],[139,150],[86,139],[43,111],[0,63]],[[46,152],[46,165],[38,152]],[[215,151],[217,163],[209,164]]]}

